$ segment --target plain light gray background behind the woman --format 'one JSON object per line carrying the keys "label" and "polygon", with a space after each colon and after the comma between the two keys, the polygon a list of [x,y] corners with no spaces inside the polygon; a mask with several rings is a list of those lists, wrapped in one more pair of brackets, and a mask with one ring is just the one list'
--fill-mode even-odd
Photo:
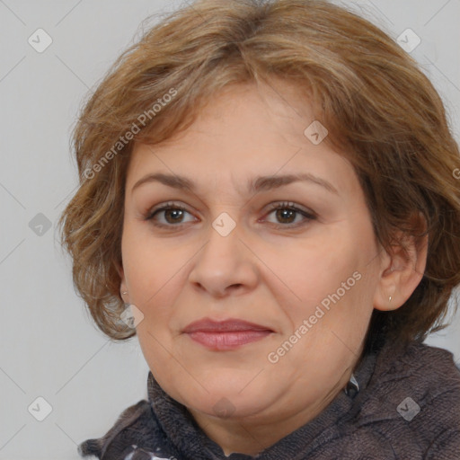
{"label": "plain light gray background behind the woman", "polygon": [[[407,28],[420,36],[411,55],[446,102],[458,141],[460,0],[342,3],[394,39]],[[0,0],[0,459],[79,458],[77,444],[105,434],[122,410],[146,397],[148,367],[137,339],[113,343],[93,326],[75,295],[56,223],[77,184],[69,133],[84,96],[138,38],[148,15],[179,4]],[[28,43],[39,28],[53,40],[42,53]],[[39,213],[51,225],[42,235],[29,226]],[[429,343],[460,359],[459,329],[457,315]],[[39,396],[52,406],[43,421],[28,411]]]}

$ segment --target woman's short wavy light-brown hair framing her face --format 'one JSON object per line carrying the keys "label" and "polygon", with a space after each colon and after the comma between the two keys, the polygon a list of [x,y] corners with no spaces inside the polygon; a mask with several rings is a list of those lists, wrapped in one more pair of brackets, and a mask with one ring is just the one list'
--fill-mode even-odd
{"label": "woman's short wavy light-brown hair framing her face", "polygon": [[373,312],[365,350],[382,334],[421,341],[442,328],[460,283],[460,155],[415,60],[372,23],[322,0],[201,0],[161,19],[111,66],[73,133],[80,186],[59,226],[75,288],[102,332],[136,334],[119,319],[117,270],[134,142],[188,128],[229,84],[277,79],[305,93],[329,130],[325,142],[353,164],[381,247],[390,252],[398,231],[429,234],[419,286],[397,310]]}

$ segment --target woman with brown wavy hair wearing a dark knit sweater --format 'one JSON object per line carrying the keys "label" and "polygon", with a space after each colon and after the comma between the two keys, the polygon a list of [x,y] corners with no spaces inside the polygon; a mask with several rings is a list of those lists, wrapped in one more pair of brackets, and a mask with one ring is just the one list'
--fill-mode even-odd
{"label": "woman with brown wavy hair wearing a dark knit sweater", "polygon": [[199,1],[119,57],[74,140],[75,286],[150,369],[82,456],[457,458],[460,375],[422,341],[460,283],[458,146],[383,31]]}

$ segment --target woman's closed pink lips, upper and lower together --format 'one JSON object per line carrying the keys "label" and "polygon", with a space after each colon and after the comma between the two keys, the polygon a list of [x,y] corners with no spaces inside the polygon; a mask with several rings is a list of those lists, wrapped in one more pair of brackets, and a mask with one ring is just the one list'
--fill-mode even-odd
{"label": "woman's closed pink lips, upper and lower together", "polygon": [[229,350],[261,341],[274,331],[267,326],[239,319],[213,321],[203,318],[190,323],[182,332],[208,349]]}

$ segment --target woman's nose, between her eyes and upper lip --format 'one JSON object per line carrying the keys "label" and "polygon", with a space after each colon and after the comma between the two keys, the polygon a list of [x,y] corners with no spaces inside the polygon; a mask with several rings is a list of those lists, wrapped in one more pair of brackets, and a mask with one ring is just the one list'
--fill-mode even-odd
{"label": "woman's nose, between her eyes and upper lip", "polygon": [[229,234],[216,228],[209,226],[208,241],[193,259],[190,283],[219,298],[251,291],[259,279],[257,258],[243,241],[240,226],[236,225]]}

